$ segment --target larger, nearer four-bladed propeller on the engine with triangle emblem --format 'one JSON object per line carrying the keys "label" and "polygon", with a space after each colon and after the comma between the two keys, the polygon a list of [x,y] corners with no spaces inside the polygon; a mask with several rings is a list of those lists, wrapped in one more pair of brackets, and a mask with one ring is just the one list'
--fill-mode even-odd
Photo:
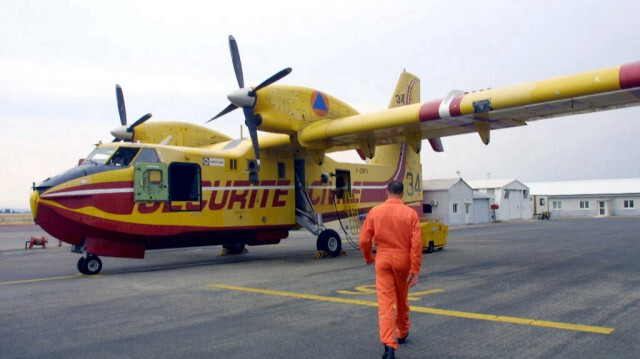
{"label": "larger, nearer four-bladed propeller on the engine with triangle emblem", "polygon": [[281,78],[287,76],[291,72],[291,68],[287,67],[286,69],[277,72],[273,76],[262,81],[262,83],[255,88],[244,87],[244,74],[242,72],[242,63],[240,62],[240,52],[238,51],[238,44],[236,43],[236,39],[234,39],[231,35],[229,35],[229,49],[231,50],[231,61],[233,62],[233,70],[236,73],[236,80],[238,80],[239,89],[234,90],[229,95],[227,95],[229,102],[231,102],[229,106],[220,111],[219,114],[217,114],[206,123],[222,117],[237,108],[242,108],[242,112],[244,112],[244,124],[249,130],[249,136],[251,137],[251,144],[253,145],[253,151],[256,156],[256,161],[258,162],[258,165],[260,165],[260,148],[258,147],[257,131],[258,126],[260,126],[260,124],[262,123],[262,117],[259,114],[256,114],[254,111],[254,106],[256,105],[257,99],[256,93],[260,91],[260,89],[263,89],[280,80]]}

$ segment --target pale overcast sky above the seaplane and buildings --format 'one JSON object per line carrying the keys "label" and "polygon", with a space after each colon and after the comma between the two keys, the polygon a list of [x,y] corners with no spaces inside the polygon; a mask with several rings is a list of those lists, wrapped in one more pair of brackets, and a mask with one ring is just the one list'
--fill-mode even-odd
{"label": "pale overcast sky above the seaplane and buildings", "polygon": [[[0,0],[0,207],[28,208],[32,182],[73,167],[129,121],[203,124],[237,83],[285,67],[280,84],[385,108],[403,69],[422,100],[640,61],[638,0]],[[241,112],[210,123],[239,136]],[[555,118],[423,145],[425,179],[640,177],[640,108]],[[357,159],[340,154],[340,159]]]}

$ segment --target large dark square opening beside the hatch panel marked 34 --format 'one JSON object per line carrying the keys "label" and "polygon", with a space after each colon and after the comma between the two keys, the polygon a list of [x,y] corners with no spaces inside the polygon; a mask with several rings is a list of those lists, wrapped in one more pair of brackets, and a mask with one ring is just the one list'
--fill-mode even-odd
{"label": "large dark square opening beside the hatch panel marked 34", "polygon": [[200,166],[179,162],[169,166],[169,199],[172,202],[199,202],[201,190]]}

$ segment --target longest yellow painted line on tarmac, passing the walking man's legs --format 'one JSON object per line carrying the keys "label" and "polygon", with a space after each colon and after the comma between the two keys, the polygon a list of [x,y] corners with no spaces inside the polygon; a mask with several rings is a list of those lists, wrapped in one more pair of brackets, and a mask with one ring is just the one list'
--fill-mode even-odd
{"label": "longest yellow painted line on tarmac, passing the walking man's legs", "polygon": [[[296,298],[296,299],[316,300],[316,301],[322,301],[322,302],[354,304],[354,305],[362,305],[362,306],[368,306],[368,307],[378,306],[377,302],[372,302],[368,300],[327,297],[327,296],[315,295],[315,294],[281,292],[276,290],[238,287],[238,286],[226,285],[226,284],[209,284],[208,287],[229,289],[229,290],[249,292],[249,293],[268,294],[268,295],[275,295],[280,297],[289,297],[289,298]],[[476,320],[485,320],[490,322],[511,323],[511,324],[520,324],[520,325],[531,325],[535,327],[573,330],[578,332],[596,333],[596,334],[604,334],[604,335],[611,334],[615,330],[615,328],[596,327],[591,325],[571,324],[571,323],[562,323],[562,322],[552,322],[547,320],[506,317],[506,316],[493,315],[493,314],[461,312],[457,310],[418,307],[415,305],[411,305],[411,311],[418,312],[418,313],[427,313],[427,314],[434,314],[434,315],[443,315],[448,317],[456,317],[456,318],[476,319]]]}

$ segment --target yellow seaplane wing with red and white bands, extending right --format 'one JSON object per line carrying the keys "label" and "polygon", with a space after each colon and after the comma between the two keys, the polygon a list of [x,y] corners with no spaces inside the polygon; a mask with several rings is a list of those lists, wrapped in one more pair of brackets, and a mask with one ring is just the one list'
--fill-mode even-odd
{"label": "yellow seaplane wing with red and white bands, extending right", "polygon": [[[640,105],[640,62],[472,93],[340,119],[316,121],[299,141],[328,151],[478,132],[527,121]],[[414,149],[416,149],[414,147]]]}

